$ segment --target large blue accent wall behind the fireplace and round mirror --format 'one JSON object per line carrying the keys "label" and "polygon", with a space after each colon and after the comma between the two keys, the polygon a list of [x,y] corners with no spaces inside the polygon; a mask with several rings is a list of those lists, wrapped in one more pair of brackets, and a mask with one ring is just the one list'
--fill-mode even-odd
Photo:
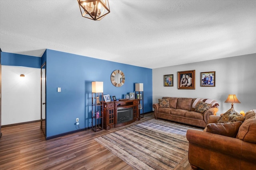
{"label": "large blue accent wall behind the fireplace and round mirror", "polygon": [[[110,81],[114,70],[122,70],[125,83],[115,87]],[[144,112],[152,111],[152,69],[94,59],[46,49],[47,137],[92,125],[92,81],[102,81],[104,94],[117,99],[135,91],[135,83],[144,84]],[[61,92],[57,92],[57,88]]]}

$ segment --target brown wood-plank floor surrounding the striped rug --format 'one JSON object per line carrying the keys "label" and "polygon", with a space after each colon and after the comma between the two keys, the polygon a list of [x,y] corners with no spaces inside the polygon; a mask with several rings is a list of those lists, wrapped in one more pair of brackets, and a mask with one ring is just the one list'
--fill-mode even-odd
{"label": "brown wood-plank floor surrounding the striped rug", "polygon": [[[40,122],[4,127],[0,139],[0,170],[132,170],[94,138],[152,118],[153,113],[148,113],[140,121],[124,127],[96,133],[88,129],[48,141]],[[188,157],[174,170],[192,170]]]}

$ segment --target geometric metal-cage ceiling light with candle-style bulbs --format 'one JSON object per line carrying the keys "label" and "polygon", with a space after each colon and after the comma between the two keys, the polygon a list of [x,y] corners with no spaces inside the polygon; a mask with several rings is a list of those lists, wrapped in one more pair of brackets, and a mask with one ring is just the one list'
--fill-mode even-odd
{"label": "geometric metal-cage ceiling light with candle-style bulbs", "polygon": [[108,0],[77,0],[84,18],[101,20],[110,13]]}

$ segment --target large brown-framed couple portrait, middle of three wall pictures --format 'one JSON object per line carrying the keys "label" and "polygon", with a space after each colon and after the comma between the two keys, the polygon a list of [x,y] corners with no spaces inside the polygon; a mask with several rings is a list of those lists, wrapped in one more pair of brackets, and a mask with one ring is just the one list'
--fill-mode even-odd
{"label": "large brown-framed couple portrait, middle of three wall pictures", "polygon": [[196,89],[196,70],[178,71],[178,89]]}

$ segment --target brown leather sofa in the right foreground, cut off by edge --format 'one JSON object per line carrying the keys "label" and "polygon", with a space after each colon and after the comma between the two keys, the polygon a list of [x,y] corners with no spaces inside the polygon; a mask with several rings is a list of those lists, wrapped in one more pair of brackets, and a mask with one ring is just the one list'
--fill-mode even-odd
{"label": "brown leather sofa in the right foreground, cut off by edge", "polygon": [[[220,125],[221,123],[216,123],[218,118],[219,116],[211,115],[209,123],[212,124],[209,125]],[[255,170],[256,113],[246,112],[244,122],[240,123],[235,137],[219,135],[222,132],[189,129],[186,137],[189,141],[188,160],[192,169]],[[233,129],[225,128],[224,131],[226,133]]]}

